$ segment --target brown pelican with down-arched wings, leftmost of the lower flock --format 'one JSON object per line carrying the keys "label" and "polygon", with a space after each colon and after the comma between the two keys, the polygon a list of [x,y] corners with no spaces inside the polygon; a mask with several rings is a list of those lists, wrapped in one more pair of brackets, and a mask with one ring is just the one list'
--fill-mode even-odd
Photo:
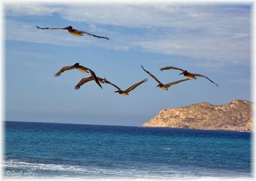
{"label": "brown pelican with down-arched wings, leftmost of the lower flock", "polygon": [[[102,88],[102,86],[100,85],[99,80],[97,79],[97,76],[95,75],[95,73],[90,68],[86,68],[86,67],[83,67],[83,66],[79,65],[79,63],[75,63],[72,66],[62,67],[54,76],[58,77],[58,76],[61,75],[62,72],[65,72],[66,70],[72,70],[74,68],[76,68],[80,72],[87,72],[87,73],[90,72],[94,81],[100,86],[100,88]],[[89,70],[89,72],[88,72],[88,70]]]}

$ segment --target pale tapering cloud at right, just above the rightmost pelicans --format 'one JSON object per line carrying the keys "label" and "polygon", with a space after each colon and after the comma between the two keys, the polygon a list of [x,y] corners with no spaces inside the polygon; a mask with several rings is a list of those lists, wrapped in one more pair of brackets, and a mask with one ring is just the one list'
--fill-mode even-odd
{"label": "pale tapering cloud at right, just above the rightmost pelicans", "polygon": [[148,52],[186,55],[190,58],[214,60],[233,65],[250,63],[250,43],[246,40],[235,41],[230,38],[194,35],[138,42],[138,46]]}

